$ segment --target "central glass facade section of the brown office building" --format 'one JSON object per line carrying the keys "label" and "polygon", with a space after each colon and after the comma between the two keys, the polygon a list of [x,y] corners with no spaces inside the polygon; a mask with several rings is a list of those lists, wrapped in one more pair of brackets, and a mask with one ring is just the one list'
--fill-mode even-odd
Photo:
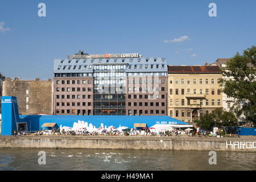
{"label": "central glass facade section of the brown office building", "polygon": [[93,114],[126,115],[126,64],[93,66]]}

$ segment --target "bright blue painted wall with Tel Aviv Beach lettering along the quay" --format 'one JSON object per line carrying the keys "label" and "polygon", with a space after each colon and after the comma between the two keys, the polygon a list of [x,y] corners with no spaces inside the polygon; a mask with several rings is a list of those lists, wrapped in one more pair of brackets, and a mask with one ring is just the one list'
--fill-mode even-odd
{"label": "bright blue painted wall with Tel Aviv Beach lettering along the quay", "polygon": [[130,129],[134,123],[146,123],[147,127],[155,124],[188,125],[168,116],[123,116],[123,115],[18,115],[16,97],[2,97],[2,135],[11,135],[17,130],[18,123],[26,122],[28,131],[39,131],[43,123],[57,123],[57,127],[73,127],[78,121],[92,123],[96,128],[103,123],[104,127],[126,126]]}

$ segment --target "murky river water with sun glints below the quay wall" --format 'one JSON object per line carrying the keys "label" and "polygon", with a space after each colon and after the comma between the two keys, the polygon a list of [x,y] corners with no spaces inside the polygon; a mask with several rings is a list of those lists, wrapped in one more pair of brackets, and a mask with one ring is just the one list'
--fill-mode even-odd
{"label": "murky river water with sun glints below the quay wall", "polygon": [[[39,164],[45,151],[46,164]],[[217,152],[209,164],[209,151],[106,149],[0,149],[0,170],[256,170],[255,152]],[[42,160],[40,160],[42,161]]]}

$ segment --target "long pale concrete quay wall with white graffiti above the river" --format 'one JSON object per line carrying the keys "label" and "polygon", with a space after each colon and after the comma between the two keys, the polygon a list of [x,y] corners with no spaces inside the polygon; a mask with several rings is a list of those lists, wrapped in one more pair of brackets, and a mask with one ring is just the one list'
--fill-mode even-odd
{"label": "long pale concrete quay wall with white graffiti above the river", "polygon": [[108,148],[256,152],[256,138],[0,136],[0,148]]}

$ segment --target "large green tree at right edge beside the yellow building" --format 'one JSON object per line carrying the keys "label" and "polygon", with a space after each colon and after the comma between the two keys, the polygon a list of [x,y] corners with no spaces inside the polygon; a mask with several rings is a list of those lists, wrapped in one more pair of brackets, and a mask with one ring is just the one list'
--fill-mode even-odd
{"label": "large green tree at right edge beside the yellow building", "polygon": [[[243,55],[232,57],[222,68],[221,85],[223,92],[235,98],[232,110],[237,116],[245,114],[246,119],[256,124],[256,47],[243,51]],[[242,105],[243,101],[246,104]],[[241,104],[241,107],[240,107]]]}

